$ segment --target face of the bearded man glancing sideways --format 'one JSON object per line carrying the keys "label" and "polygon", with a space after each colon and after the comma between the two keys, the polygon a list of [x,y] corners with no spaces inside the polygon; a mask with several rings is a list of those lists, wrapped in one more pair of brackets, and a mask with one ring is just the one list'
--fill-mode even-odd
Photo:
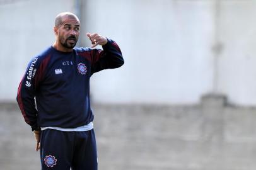
{"label": "face of the bearded man glancing sideways", "polygon": [[61,25],[58,28],[58,37],[61,45],[66,48],[74,48],[76,42],[78,42],[80,33],[80,23],[73,18],[64,18]]}

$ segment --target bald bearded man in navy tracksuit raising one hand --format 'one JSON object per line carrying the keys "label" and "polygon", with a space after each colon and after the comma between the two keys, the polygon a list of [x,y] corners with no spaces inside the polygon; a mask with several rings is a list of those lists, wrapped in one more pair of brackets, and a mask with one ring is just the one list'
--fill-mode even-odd
{"label": "bald bearded man in navy tracksuit raising one hand", "polygon": [[98,33],[86,35],[92,48],[103,50],[74,48],[79,30],[75,14],[58,14],[54,44],[30,61],[18,88],[18,105],[35,134],[42,169],[97,169],[90,77],[120,67],[124,59],[117,43]]}

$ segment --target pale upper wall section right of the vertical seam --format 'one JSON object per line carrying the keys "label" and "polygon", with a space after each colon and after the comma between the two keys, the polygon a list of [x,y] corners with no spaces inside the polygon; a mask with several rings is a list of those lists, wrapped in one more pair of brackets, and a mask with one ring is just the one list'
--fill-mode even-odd
{"label": "pale upper wall section right of the vertical seam", "polygon": [[218,91],[232,103],[256,104],[256,1],[219,4]]}

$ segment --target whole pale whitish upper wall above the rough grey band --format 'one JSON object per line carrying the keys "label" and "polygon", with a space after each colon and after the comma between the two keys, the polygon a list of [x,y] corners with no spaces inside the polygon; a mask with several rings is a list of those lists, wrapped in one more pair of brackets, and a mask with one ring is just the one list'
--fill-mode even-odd
{"label": "whole pale whitish upper wall above the rough grey band", "polygon": [[[8,2],[3,3],[3,2]],[[33,55],[52,44],[54,17],[78,1],[0,3],[0,100],[15,100]],[[81,45],[86,31],[119,43],[124,67],[95,74],[97,103],[195,104],[202,94],[227,94],[255,105],[254,1],[81,1]]]}

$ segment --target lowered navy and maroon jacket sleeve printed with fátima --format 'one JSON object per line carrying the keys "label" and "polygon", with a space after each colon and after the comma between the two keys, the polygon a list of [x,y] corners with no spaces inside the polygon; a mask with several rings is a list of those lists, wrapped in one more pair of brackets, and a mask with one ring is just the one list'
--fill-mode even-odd
{"label": "lowered navy and maroon jacket sleeve printed with f\u00e1tima", "polygon": [[40,77],[38,75],[39,65],[38,57],[30,61],[25,75],[21,79],[16,98],[25,122],[32,127],[32,130],[39,130],[35,106],[35,92],[38,84],[37,81]]}

